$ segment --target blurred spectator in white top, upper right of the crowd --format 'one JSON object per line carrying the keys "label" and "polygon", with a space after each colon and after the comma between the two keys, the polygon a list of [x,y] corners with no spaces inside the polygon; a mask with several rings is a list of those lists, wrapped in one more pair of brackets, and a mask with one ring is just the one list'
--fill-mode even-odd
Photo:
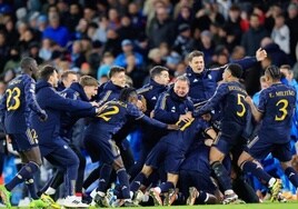
{"label": "blurred spectator in white top, upper right of the crowd", "polygon": [[290,53],[290,31],[287,24],[285,24],[285,17],[278,14],[275,18],[275,27],[271,32],[271,39],[279,48],[287,54]]}

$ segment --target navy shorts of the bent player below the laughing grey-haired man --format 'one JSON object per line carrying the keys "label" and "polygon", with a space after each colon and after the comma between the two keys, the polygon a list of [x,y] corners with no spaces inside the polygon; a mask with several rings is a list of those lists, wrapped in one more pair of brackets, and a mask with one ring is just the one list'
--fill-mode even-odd
{"label": "navy shorts of the bent player below the laughing grey-haired man", "polygon": [[166,172],[178,173],[185,159],[185,151],[170,143],[159,141],[148,155],[145,165],[157,169],[163,163]]}

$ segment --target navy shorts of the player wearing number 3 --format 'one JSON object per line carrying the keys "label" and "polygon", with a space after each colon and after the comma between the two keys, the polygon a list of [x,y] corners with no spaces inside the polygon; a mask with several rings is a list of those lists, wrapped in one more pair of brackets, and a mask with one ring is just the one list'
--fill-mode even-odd
{"label": "navy shorts of the player wearing number 3", "polygon": [[281,162],[290,161],[292,157],[290,141],[286,143],[274,143],[258,136],[247,145],[245,150],[258,160],[265,159],[269,153],[272,153]]}

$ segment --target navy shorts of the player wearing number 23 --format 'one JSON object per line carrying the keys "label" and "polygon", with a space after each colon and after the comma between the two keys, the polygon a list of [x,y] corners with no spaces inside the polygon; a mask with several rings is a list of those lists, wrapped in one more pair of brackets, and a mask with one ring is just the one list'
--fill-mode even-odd
{"label": "navy shorts of the player wearing number 23", "polygon": [[34,129],[27,129],[24,133],[9,133],[12,148],[17,151],[28,151],[38,146],[38,136]]}

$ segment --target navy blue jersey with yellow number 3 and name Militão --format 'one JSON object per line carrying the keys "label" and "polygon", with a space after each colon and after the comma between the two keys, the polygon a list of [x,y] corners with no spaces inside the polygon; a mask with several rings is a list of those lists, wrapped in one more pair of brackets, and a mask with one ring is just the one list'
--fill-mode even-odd
{"label": "navy blue jersey with yellow number 3 and name Milit\u00e3o", "polygon": [[292,87],[276,83],[260,92],[258,110],[262,112],[259,137],[270,142],[290,140],[291,120],[297,92]]}

